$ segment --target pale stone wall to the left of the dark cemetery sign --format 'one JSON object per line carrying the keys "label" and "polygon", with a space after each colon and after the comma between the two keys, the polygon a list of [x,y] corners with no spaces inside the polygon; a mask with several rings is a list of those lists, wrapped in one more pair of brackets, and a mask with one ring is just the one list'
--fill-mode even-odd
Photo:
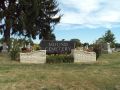
{"label": "pale stone wall to the left of the dark cemetery sign", "polygon": [[29,53],[20,53],[21,63],[46,63],[46,50],[39,50]]}

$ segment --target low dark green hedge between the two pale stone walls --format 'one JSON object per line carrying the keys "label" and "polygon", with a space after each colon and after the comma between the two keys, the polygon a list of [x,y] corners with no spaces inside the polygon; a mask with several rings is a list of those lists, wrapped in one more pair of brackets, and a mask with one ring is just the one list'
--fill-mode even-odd
{"label": "low dark green hedge between the two pale stone walls", "polygon": [[48,55],[46,63],[73,63],[74,59],[70,55]]}

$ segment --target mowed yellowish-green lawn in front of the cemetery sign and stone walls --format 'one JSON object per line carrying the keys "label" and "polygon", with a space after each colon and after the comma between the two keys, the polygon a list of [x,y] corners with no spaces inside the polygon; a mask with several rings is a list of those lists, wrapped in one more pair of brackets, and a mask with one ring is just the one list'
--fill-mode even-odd
{"label": "mowed yellowish-green lawn in front of the cemetery sign and stone walls", "polygon": [[21,64],[0,54],[0,90],[120,90],[120,53],[88,64]]}

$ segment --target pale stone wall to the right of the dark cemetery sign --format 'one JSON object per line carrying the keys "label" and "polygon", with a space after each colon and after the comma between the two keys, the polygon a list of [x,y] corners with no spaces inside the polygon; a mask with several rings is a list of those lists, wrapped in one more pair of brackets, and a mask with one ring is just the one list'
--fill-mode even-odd
{"label": "pale stone wall to the right of the dark cemetery sign", "polygon": [[96,61],[96,53],[95,52],[72,50],[72,54],[73,54],[75,63],[77,63],[77,62],[95,62]]}

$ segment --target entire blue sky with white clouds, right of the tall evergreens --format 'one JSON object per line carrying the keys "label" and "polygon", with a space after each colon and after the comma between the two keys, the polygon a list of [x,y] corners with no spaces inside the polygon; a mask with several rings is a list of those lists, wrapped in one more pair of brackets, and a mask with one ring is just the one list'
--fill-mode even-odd
{"label": "entire blue sky with white clouds, right of the tall evergreens", "polygon": [[58,0],[63,15],[55,27],[57,40],[94,43],[107,30],[120,43],[120,0]]}

